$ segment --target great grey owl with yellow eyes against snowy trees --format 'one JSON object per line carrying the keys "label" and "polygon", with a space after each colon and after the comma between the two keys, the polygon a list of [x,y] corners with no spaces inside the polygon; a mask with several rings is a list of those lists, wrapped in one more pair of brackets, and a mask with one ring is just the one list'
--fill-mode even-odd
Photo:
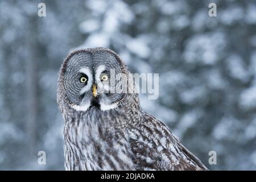
{"label": "great grey owl with yellow eyes against snowy trees", "polygon": [[[64,60],[57,103],[65,119],[65,169],[207,170],[164,123],[141,109],[138,92],[110,92],[129,80],[113,84],[111,70],[122,78],[130,73],[106,48],[80,49]],[[136,90],[120,86],[128,87]]]}

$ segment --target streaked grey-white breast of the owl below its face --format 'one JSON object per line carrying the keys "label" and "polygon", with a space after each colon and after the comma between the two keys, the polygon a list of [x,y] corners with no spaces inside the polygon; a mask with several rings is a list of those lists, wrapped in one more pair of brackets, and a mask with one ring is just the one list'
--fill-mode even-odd
{"label": "streaked grey-white breast of the owl below its face", "polygon": [[93,112],[77,113],[65,123],[65,168],[134,170],[127,131],[115,128],[114,122],[106,122],[108,115]]}

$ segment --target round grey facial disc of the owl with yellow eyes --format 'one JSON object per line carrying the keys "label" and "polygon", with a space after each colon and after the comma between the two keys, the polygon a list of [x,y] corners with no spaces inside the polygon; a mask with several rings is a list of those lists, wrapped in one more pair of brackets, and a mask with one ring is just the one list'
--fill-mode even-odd
{"label": "round grey facial disc of the owl with yellow eyes", "polygon": [[[110,82],[110,73],[122,73],[121,61],[110,51],[80,50],[64,61],[60,82],[65,98],[77,111],[114,109],[122,101],[122,93],[113,93],[118,80]],[[111,74],[112,75],[112,74]],[[113,75],[112,75],[113,77]]]}

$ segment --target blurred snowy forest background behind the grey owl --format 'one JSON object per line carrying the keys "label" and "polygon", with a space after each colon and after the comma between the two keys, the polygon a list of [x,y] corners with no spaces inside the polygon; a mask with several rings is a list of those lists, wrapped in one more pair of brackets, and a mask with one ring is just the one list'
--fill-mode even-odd
{"label": "blurred snowy forest background behind the grey owl", "polygon": [[142,107],[209,169],[256,169],[256,1],[239,0],[1,0],[0,169],[64,169],[57,72],[71,49],[97,46],[159,73]]}

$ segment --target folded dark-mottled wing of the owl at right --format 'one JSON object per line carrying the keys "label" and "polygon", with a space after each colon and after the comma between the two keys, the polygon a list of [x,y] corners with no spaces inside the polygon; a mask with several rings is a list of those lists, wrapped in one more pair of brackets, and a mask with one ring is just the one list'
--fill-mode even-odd
{"label": "folded dark-mottled wing of the owl at right", "polygon": [[145,113],[129,130],[133,162],[138,170],[208,170],[164,123]]}

